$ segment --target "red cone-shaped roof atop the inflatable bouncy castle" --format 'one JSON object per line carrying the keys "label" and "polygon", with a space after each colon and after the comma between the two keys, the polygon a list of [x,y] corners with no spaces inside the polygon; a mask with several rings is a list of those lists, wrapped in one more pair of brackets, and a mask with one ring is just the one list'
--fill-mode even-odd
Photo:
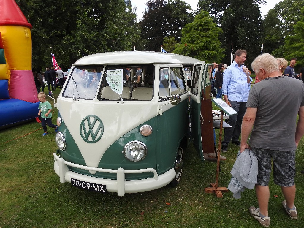
{"label": "red cone-shaped roof atop the inflatable bouncy castle", "polygon": [[0,26],[17,25],[32,28],[14,0],[0,0]]}

